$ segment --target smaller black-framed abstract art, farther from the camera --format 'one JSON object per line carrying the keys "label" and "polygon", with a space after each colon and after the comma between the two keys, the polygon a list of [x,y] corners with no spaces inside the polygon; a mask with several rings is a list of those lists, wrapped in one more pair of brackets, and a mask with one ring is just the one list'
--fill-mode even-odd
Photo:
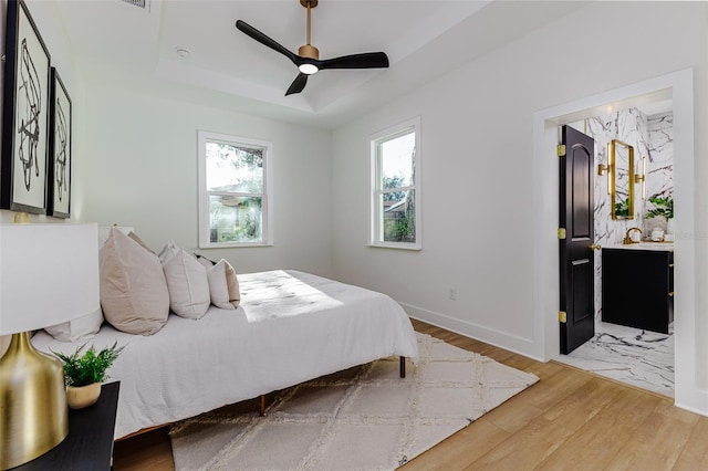
{"label": "smaller black-framed abstract art, farther from the camera", "polygon": [[71,216],[71,98],[56,67],[52,67],[50,96],[46,213],[55,218],[69,218]]}

